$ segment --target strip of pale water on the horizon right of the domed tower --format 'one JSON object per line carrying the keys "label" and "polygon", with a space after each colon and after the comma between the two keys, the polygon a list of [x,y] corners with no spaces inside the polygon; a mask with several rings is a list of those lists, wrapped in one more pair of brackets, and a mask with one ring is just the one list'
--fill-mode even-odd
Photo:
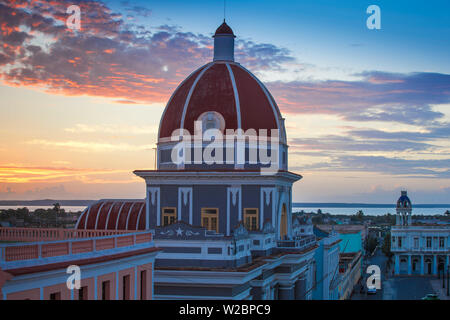
{"label": "strip of pale water on the horizon right of the domed tower", "polygon": [[[297,207],[294,206],[292,208],[293,212],[305,211],[305,212],[317,212],[317,210],[322,210],[322,213],[329,214],[345,214],[352,215],[362,210],[365,215],[371,216],[379,216],[384,215],[386,213],[395,214],[395,207],[386,208],[386,207],[370,207],[370,208],[358,208],[358,207]],[[444,214],[446,210],[450,210],[450,206],[448,207],[436,207],[436,208],[414,208],[412,210],[413,215],[436,215],[436,214]]]}

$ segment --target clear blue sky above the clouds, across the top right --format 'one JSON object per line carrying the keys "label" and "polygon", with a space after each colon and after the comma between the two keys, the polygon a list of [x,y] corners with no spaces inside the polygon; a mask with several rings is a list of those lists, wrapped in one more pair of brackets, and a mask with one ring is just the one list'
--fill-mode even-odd
{"label": "clear blue sky above the clouds, across the top right", "polygon": [[[114,2],[119,9],[123,1]],[[381,9],[381,30],[368,30],[366,9]],[[212,34],[223,1],[133,1],[151,8],[149,25],[175,24]],[[301,61],[355,70],[450,72],[448,1],[227,1],[239,37],[286,47]]]}

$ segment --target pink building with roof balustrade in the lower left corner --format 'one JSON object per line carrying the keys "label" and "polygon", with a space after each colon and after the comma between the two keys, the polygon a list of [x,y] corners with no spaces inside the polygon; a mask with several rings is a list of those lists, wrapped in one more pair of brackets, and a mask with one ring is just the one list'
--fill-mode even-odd
{"label": "pink building with roof balustrade in the lower left corner", "polygon": [[1,228],[0,240],[0,300],[153,298],[150,232]]}

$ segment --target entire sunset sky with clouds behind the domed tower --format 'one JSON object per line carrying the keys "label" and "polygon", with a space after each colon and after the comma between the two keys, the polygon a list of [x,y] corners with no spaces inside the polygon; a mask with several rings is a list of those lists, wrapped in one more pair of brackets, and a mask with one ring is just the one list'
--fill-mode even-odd
{"label": "entire sunset sky with clouds behind the domed tower", "polygon": [[[0,0],[0,200],[143,198],[132,171],[154,168],[165,104],[212,60],[223,11]],[[406,188],[450,203],[448,0],[228,0],[226,20],[286,118],[294,201],[393,203]]]}

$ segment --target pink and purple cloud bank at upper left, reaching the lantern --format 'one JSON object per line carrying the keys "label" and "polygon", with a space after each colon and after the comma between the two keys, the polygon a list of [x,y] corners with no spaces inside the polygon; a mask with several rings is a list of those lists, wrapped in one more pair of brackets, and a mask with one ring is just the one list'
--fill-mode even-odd
{"label": "pink and purple cloud bank at upper left, reaching the lantern", "polygon": [[[170,26],[155,31],[132,26],[102,2],[77,2],[82,30],[76,32],[64,25],[71,1],[4,3],[0,4],[0,76],[7,85],[38,86],[55,94],[165,103],[175,87],[212,56],[209,36]],[[22,27],[30,31],[19,32]],[[37,32],[52,37],[54,42],[46,50],[39,44]],[[284,49],[268,44],[242,41],[240,47],[238,55],[243,51],[258,55],[260,68],[291,59]]]}

